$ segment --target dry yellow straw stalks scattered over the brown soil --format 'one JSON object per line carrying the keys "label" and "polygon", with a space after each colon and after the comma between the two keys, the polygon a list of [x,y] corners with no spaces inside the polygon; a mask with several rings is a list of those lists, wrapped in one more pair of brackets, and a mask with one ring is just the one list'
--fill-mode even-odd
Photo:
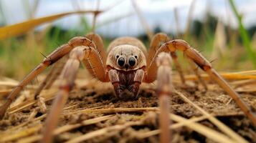
{"label": "dry yellow straw stalks scattered over the brown soil", "polygon": [[[252,74],[252,73],[254,74],[255,71],[242,71],[242,72],[229,73],[229,74],[246,76],[247,74]],[[226,74],[226,75],[229,75],[229,74]],[[101,98],[102,96],[105,96],[104,91],[109,90],[109,88],[111,88],[109,84],[105,84],[104,88],[102,88],[102,84],[100,84],[97,81],[93,82],[91,81],[90,78],[89,79],[85,78],[87,76],[85,75],[86,74],[84,74],[84,71],[82,71],[79,74],[78,76],[79,79],[77,79],[76,87],[82,88],[85,90],[86,92],[85,94],[88,94],[88,95],[85,95],[85,97],[89,96],[89,97],[86,97],[86,100],[90,100],[90,93],[93,91],[96,92],[96,94],[93,96],[93,99],[97,99],[97,98]],[[174,76],[174,78],[176,78],[176,75]],[[189,78],[186,77],[186,79],[189,79]],[[39,78],[39,81],[41,80],[42,80],[42,77]],[[82,82],[82,80],[84,80],[84,82]],[[234,82],[231,82],[232,86],[236,86],[237,84],[243,84],[241,88],[252,87],[252,86],[255,86],[256,84],[255,79],[249,79],[250,81],[249,80],[245,81],[245,80],[237,80],[236,78],[234,78],[233,80]],[[194,81],[194,79],[192,81]],[[9,91],[9,89],[13,88],[13,86],[16,85],[16,82],[11,79],[2,79],[1,84],[2,84],[1,88],[4,88],[2,90]],[[48,109],[50,105],[49,101],[54,99],[54,95],[57,92],[56,84],[54,84],[54,87],[52,87],[51,89],[44,90],[42,92],[42,97],[45,97],[47,101]],[[209,92],[214,91],[216,89],[216,87],[212,86],[212,84],[207,83],[207,85],[210,87]],[[44,126],[44,119],[45,117],[47,117],[47,114],[37,115],[40,113],[40,111],[38,109],[37,101],[34,101],[34,99],[32,98],[34,90],[36,89],[37,86],[33,85],[32,87],[34,88],[27,88],[25,89],[24,92],[22,92],[19,98],[23,97],[24,94],[26,94],[26,92],[29,92],[29,96],[27,96],[27,98],[23,98],[19,102],[16,102],[16,105],[15,106],[13,105],[8,110],[8,116],[4,119],[4,122],[8,120],[9,122],[11,122],[12,120],[13,122],[15,122],[15,118],[13,117],[19,116],[18,114],[22,114],[23,122],[18,122],[14,125],[6,126],[6,127],[3,127],[3,124],[4,124],[3,121],[0,122],[2,126],[0,131],[0,135],[1,135],[0,142],[37,142],[39,141],[39,139],[41,139],[42,135],[40,131]],[[150,85],[144,85],[143,88],[144,88],[143,90],[151,91],[151,89],[154,90],[156,87],[155,85],[150,84]],[[101,92],[98,92],[100,89],[101,89]],[[244,137],[242,137],[242,134],[232,130],[230,128],[230,124],[226,125],[218,119],[219,117],[227,117],[227,118],[240,117],[242,115],[241,112],[234,111],[234,112],[225,112],[222,114],[217,114],[214,112],[211,113],[207,111],[203,105],[200,105],[199,107],[199,103],[196,102],[196,99],[192,101],[191,97],[189,97],[191,95],[185,95],[184,92],[179,92],[177,90],[174,90],[174,93],[178,95],[178,97],[175,97],[174,99],[181,97],[181,99],[184,100],[184,105],[174,104],[174,102],[172,102],[172,104],[170,105],[171,108],[185,106],[185,103],[187,102],[188,104],[191,105],[191,107],[194,107],[196,110],[198,110],[199,114],[202,114],[202,115],[196,115],[196,117],[192,116],[190,118],[187,118],[187,117],[182,117],[182,115],[170,114],[170,119],[173,122],[173,124],[171,124],[170,126],[170,129],[173,132],[178,132],[180,129],[191,129],[191,131],[198,132],[199,134],[202,134],[204,137],[214,142],[248,142]],[[128,132],[127,129],[129,128],[132,129],[133,127],[138,127],[138,128],[145,127],[145,126],[147,127],[147,126],[150,126],[149,122],[153,122],[154,120],[158,119],[157,117],[158,107],[151,107],[151,106],[149,107],[118,107],[118,105],[116,105],[117,103],[116,101],[113,102],[113,106],[111,106],[110,104],[105,104],[98,107],[90,107],[90,104],[82,105],[82,102],[75,102],[77,101],[76,98],[81,98],[82,95],[80,94],[82,94],[82,92],[75,93],[75,97],[74,95],[71,95],[70,102],[67,104],[65,109],[63,109],[63,113],[61,117],[62,121],[60,122],[59,127],[54,131],[54,135],[57,136],[58,138],[61,138],[62,142],[64,140],[65,142],[83,142],[85,140],[90,142],[98,142],[98,141],[95,141],[95,138],[97,139],[98,137],[105,137],[105,139],[111,141],[111,139],[115,139],[115,137],[117,137],[118,134],[120,136],[121,135],[120,133],[124,134],[124,132]],[[111,95],[107,95],[107,96],[111,96]],[[108,98],[110,98],[110,102],[113,101],[113,99],[111,99],[112,97],[108,97]],[[152,97],[149,97],[149,98],[152,98]],[[2,97],[0,102],[4,102],[4,99],[5,97]],[[253,97],[252,99],[255,100],[256,98]],[[102,99],[100,102],[105,102],[105,100]],[[127,104],[129,101],[128,102],[119,101],[118,103],[123,104],[122,102]],[[138,105],[134,104],[134,106],[139,106],[139,104],[142,104],[140,103],[140,99],[138,101],[132,101],[131,103],[138,104]],[[97,102],[95,102],[95,104],[97,104]],[[207,103],[207,104],[210,104],[210,103]],[[225,105],[225,103],[223,103],[222,106],[233,107],[233,105],[234,103],[232,104],[229,103],[229,105]],[[26,113],[28,109],[29,109],[29,112]],[[183,114],[186,114],[186,113],[183,113]],[[90,115],[93,115],[94,117],[91,117],[89,119],[85,118],[82,120],[79,119],[81,116],[90,116]],[[76,117],[75,122],[70,121],[70,119],[67,119],[67,121],[65,122],[66,117],[70,117],[70,116]],[[122,120],[123,119],[122,116],[125,116],[126,117],[125,119],[128,119],[128,120],[125,122],[124,121],[120,122],[119,120],[119,122],[109,124],[108,126],[98,127],[99,124],[104,124],[106,122],[113,122],[115,121],[115,119]],[[131,120],[129,120],[130,118]],[[212,125],[208,126],[207,124],[203,124],[207,120],[209,121],[209,124],[214,124],[214,127],[212,127]],[[91,127],[93,127],[93,129],[91,129]],[[158,125],[156,125],[156,129],[153,128],[151,130],[146,130],[144,132],[139,132],[139,130],[137,132],[133,132],[132,138],[141,140],[141,141],[146,141],[145,139],[151,139],[152,137],[157,139],[158,134],[160,133],[157,127]],[[187,127],[187,128],[184,128],[184,127]],[[80,134],[80,135],[72,133],[76,131],[76,129],[78,129],[78,131],[79,129],[88,129],[89,132],[86,132],[85,134]],[[219,132],[219,130],[221,132]],[[253,130],[253,127],[252,127],[252,130]],[[181,134],[180,135],[178,134],[174,133],[172,135],[174,142],[177,142],[176,140],[177,139],[179,140],[179,138],[183,136]],[[125,137],[123,138],[125,139]],[[129,140],[131,138],[127,137],[127,139]],[[152,141],[149,141],[149,142],[152,142]]]}

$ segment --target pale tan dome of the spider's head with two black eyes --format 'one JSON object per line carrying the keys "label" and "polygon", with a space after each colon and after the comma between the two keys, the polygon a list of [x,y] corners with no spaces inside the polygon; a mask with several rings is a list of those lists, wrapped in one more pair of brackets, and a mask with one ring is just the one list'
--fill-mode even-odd
{"label": "pale tan dome of the spider's head with two black eyes", "polygon": [[146,57],[137,46],[115,46],[109,54],[107,65],[122,71],[131,71],[146,66]]}

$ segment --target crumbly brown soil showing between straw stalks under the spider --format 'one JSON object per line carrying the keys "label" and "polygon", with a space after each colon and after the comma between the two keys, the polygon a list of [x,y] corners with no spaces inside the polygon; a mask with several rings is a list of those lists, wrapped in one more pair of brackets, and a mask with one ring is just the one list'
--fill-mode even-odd
{"label": "crumbly brown soil showing between straw stalks under the spider", "polygon": [[[85,142],[158,142],[158,135],[153,135],[151,137],[146,137],[144,139],[140,138],[141,134],[158,129],[158,112],[87,112],[87,113],[74,113],[82,109],[114,109],[114,108],[140,108],[140,107],[158,107],[158,95],[156,94],[156,85],[143,85],[140,92],[140,97],[138,99],[116,99],[113,94],[113,89],[109,84],[99,84],[98,82],[93,82],[94,84],[87,84],[87,82],[81,82],[82,79],[78,80],[77,86],[70,93],[69,99],[65,107],[70,107],[63,111],[63,115],[58,124],[59,127],[65,126],[67,124],[77,124],[86,119],[94,119],[96,117],[103,117],[105,115],[113,115],[110,119],[107,119],[96,124],[90,124],[77,129],[72,129],[68,132],[58,134],[54,138],[54,142],[65,142],[69,139],[79,137],[82,134],[87,134],[98,129],[103,129],[105,127],[112,127],[116,124],[125,124],[128,122],[142,121],[143,124],[132,125],[131,127],[126,127],[115,132],[115,130],[110,130],[108,134],[102,134],[99,137],[93,137]],[[88,79],[88,81],[92,81]],[[82,84],[81,84],[82,83]],[[96,83],[96,84],[95,84]],[[240,134],[248,142],[256,142],[255,127],[252,125],[249,119],[242,114],[237,104],[234,101],[229,102],[230,97],[223,92],[216,84],[207,83],[211,87],[207,92],[202,89],[202,87],[188,87],[183,88],[181,84],[175,84],[174,88],[182,92],[186,97],[188,97],[192,102],[202,107],[207,112],[216,115],[217,119],[230,127],[234,132]],[[192,84],[193,85],[193,84]],[[52,87],[54,88],[54,87]],[[245,94],[242,93],[242,99],[250,104],[253,108],[255,107],[255,93]],[[52,104],[52,100],[46,102],[47,108]],[[227,105],[226,105],[227,104]],[[172,94],[170,97],[170,107],[173,114],[177,114],[181,117],[191,118],[200,117],[202,114],[179,97],[178,94]],[[12,129],[20,124],[27,122],[29,115],[32,114],[33,109],[36,109],[37,105],[23,109],[21,112],[16,112],[15,114],[6,115],[3,120],[0,121],[0,134]],[[72,114],[74,113],[74,114]],[[44,113],[38,110],[34,118],[42,116]],[[37,126],[37,124],[44,124],[45,118],[41,121],[30,122],[20,129],[12,131],[12,134],[17,134],[17,132],[22,129],[27,129],[29,127]],[[204,119],[199,122],[204,126],[210,127],[214,130],[219,129],[209,122],[209,120]],[[30,134],[29,136],[41,134],[40,130]],[[214,142],[212,139],[204,137],[204,135],[195,132],[193,129],[188,127],[179,127],[172,130],[172,141],[173,142]],[[22,139],[19,138],[19,139]],[[16,142],[19,139],[14,139],[11,142]]]}

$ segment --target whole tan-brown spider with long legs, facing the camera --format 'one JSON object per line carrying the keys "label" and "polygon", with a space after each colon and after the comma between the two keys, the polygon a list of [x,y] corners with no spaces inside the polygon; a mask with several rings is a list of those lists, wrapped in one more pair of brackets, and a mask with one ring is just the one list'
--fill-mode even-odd
{"label": "whole tan-brown spider with long legs, facing the camera", "polygon": [[[111,82],[115,96],[120,99],[137,98],[142,82],[151,83],[157,80],[160,105],[160,141],[169,142],[169,95],[171,94],[172,87],[170,64],[172,58],[174,59],[174,64],[179,66],[177,64],[176,50],[183,51],[186,57],[206,71],[234,99],[242,111],[245,112],[245,115],[251,119],[252,123],[256,125],[255,114],[247,107],[245,102],[242,102],[240,95],[234,92],[234,89],[212,68],[209,61],[202,54],[189,46],[186,41],[181,39],[171,40],[169,36],[161,33],[153,36],[149,51],[146,50],[141,41],[133,37],[115,39],[108,46],[108,51],[104,50],[103,40],[98,34],[87,34],[87,36],[77,36],[70,39],[67,44],[58,47],[49,54],[41,64],[12,90],[9,97],[7,97],[7,101],[0,107],[0,117],[4,117],[6,109],[11,102],[34,77],[48,66],[62,59],[63,56],[69,55],[60,74],[60,79],[62,80],[59,86],[60,91],[57,93],[57,97],[54,99],[52,109],[47,117],[42,142],[52,141],[52,133],[57,127],[61,110],[65,102],[67,102],[69,92],[74,87],[80,61],[85,64],[93,77],[101,82]],[[54,68],[52,68],[52,71],[54,71]],[[182,72],[179,74],[181,79],[184,80]],[[48,78],[49,76],[44,80],[38,91],[45,86]],[[124,94],[125,92],[129,94]]]}

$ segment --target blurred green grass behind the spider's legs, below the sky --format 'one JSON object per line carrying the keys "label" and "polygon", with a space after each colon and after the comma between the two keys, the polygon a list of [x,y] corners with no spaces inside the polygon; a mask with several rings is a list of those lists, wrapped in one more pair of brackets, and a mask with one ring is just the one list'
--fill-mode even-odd
{"label": "blurred green grass behind the spider's legs, below the sky", "polygon": [[[209,23],[212,24],[211,21]],[[39,39],[39,35],[42,34],[42,31],[37,31],[34,33],[34,37],[25,34],[24,36],[0,40],[0,76],[22,79],[44,59],[42,54],[48,55],[56,49],[57,46],[66,44],[72,37],[84,36],[91,30],[86,19],[81,19],[81,27],[82,30],[77,31],[75,29],[63,30],[58,26],[54,26],[54,28],[47,31],[42,39]],[[214,26],[199,24],[197,29],[199,33],[191,32],[186,36],[185,40],[198,51],[202,51],[202,54],[209,59],[209,61],[214,60],[211,58],[215,33]],[[242,37],[242,44],[240,44],[239,39],[227,41],[227,46],[231,45],[232,48],[227,48],[226,53],[212,63],[217,69],[221,71],[230,69],[246,70],[250,69],[252,63],[256,65],[255,53],[252,51],[250,38],[245,27],[242,25],[241,18],[239,30]],[[233,35],[227,36],[231,37]],[[140,37],[143,39],[145,36]],[[109,39],[108,37],[103,37],[105,47],[107,47],[112,40],[113,39]],[[143,42],[146,46],[149,45],[148,41],[145,39]],[[181,65],[184,69],[190,70],[188,64],[186,64],[186,60],[184,60],[184,54],[179,52],[179,57],[179,61],[181,61]],[[248,57],[250,60],[248,60]]]}

